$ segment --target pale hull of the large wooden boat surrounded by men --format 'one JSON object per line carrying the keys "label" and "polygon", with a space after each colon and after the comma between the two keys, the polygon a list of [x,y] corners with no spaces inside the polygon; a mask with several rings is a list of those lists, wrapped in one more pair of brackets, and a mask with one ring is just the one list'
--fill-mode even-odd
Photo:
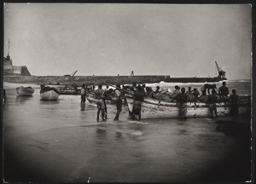
{"label": "pale hull of the large wooden boat surrounded by men", "polygon": [[[125,95],[128,104],[128,110],[132,111],[133,99],[131,95]],[[251,114],[250,96],[240,96],[239,115]],[[178,106],[176,102],[160,101],[152,98],[144,98],[142,103],[142,118],[178,118]],[[230,115],[230,103],[217,103],[218,116]],[[188,102],[187,118],[210,117],[209,105],[204,102]]]}

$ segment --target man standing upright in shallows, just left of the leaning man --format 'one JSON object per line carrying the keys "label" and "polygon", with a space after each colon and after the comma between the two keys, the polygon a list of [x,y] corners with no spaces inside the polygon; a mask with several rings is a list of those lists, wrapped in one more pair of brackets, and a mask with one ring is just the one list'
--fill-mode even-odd
{"label": "man standing upright in shallows, just left of the leaning man", "polygon": [[106,121],[106,117],[105,117],[105,105],[104,102],[102,100],[103,98],[103,93],[104,90],[102,89],[102,84],[98,85],[98,89],[96,89],[95,91],[95,98],[96,98],[96,105],[97,105],[97,122],[99,122],[99,116],[100,113],[102,112],[102,121]]}

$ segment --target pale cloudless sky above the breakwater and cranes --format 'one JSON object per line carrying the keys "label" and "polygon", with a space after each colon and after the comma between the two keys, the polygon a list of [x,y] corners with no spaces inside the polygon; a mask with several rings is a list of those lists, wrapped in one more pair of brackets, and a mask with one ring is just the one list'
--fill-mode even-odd
{"label": "pale cloudless sky above the breakwater and cranes", "polygon": [[215,77],[217,61],[250,79],[251,32],[250,4],[4,4],[4,55],[37,76]]}

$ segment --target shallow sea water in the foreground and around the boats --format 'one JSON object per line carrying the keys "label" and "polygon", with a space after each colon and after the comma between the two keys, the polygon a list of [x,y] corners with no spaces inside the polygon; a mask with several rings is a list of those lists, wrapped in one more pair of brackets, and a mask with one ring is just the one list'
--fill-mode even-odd
{"label": "shallow sea water in the foreground and around the boats", "polygon": [[[203,83],[153,83],[200,89]],[[25,85],[25,84],[24,84]],[[250,180],[249,144],[219,132],[209,118],[131,121],[123,106],[119,121],[108,105],[107,122],[96,122],[96,106],[79,95],[41,101],[39,86],[19,96],[20,84],[4,83],[5,181],[188,182]],[[221,83],[217,83],[220,87]],[[227,81],[238,95],[250,95],[250,81]],[[250,124],[250,118],[236,119]],[[239,153],[239,154],[238,154]]]}

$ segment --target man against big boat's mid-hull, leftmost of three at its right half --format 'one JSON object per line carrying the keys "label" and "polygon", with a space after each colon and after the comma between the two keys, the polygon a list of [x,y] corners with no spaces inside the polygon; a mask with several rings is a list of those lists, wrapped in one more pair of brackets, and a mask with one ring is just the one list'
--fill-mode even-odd
{"label": "man against big boat's mid-hull, leftmost of three at its right half", "polygon": [[187,102],[189,101],[189,96],[185,94],[185,88],[181,89],[181,93],[177,94],[172,99],[172,102],[177,100],[178,105],[178,118],[187,118]]}

